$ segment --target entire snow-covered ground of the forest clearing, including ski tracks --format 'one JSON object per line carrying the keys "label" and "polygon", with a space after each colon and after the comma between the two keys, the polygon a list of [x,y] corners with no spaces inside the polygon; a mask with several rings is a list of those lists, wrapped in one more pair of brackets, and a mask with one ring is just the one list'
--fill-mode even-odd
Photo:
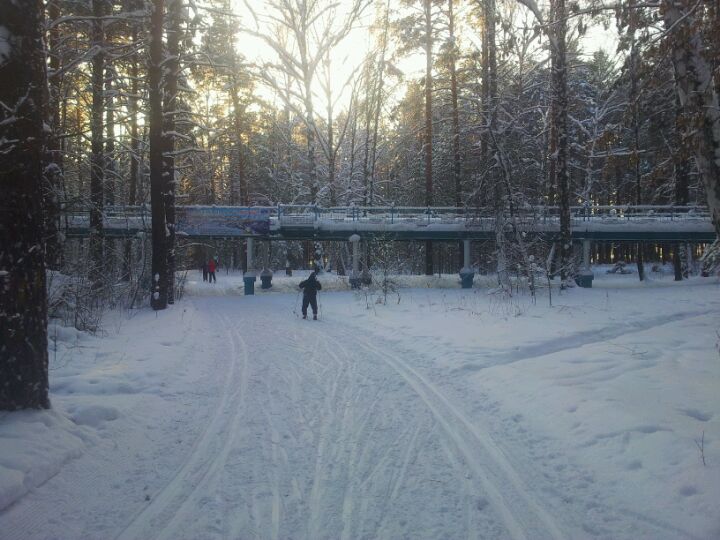
{"label": "entire snow-covered ground of the forest clearing, including ski tracks", "polygon": [[720,284],[595,275],[552,307],[324,275],[313,322],[302,276],[193,273],[52,326],[53,410],[0,416],[0,538],[719,538]]}

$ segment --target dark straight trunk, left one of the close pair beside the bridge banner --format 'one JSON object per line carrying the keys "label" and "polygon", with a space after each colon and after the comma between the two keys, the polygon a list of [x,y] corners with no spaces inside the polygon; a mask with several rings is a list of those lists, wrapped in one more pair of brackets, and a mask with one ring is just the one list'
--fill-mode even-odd
{"label": "dark straight trunk, left one of the close pair beside the bridge banner", "polygon": [[153,0],[150,16],[150,63],[148,65],[148,104],[150,108],[150,209],[152,212],[152,285],[150,306],[165,309],[168,302],[168,257],[165,224],[165,190],[163,177],[163,10],[164,0]]}

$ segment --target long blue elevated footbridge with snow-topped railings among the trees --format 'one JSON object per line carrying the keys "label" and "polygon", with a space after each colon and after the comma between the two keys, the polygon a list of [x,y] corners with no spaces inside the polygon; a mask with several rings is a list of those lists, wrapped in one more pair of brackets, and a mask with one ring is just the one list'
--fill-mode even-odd
{"label": "long blue elevated footbridge with snow-topped railings among the trees", "polygon": [[[177,206],[178,236],[191,238],[258,238],[267,240],[493,240],[492,208]],[[67,209],[63,226],[68,237],[90,234],[89,209]],[[559,208],[528,206],[505,217],[508,232],[520,231],[553,239],[560,232]],[[111,206],[103,211],[106,237],[132,238],[149,232],[149,206]],[[571,207],[575,240],[712,242],[715,231],[704,206],[575,206]]]}

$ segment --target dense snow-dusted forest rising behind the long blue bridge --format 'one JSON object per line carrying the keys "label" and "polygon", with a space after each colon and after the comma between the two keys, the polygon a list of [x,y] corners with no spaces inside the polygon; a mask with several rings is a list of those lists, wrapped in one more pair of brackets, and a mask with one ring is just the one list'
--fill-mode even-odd
{"label": "dense snow-dusted forest rising behind the long blue bridge", "polygon": [[[707,205],[720,227],[715,0],[0,0],[0,75],[4,355],[27,346],[13,329],[42,336],[46,287],[78,328],[172,303],[203,249],[175,237],[177,205],[490,208],[477,257],[500,285],[548,258],[572,276],[573,206]],[[106,210],[135,205],[152,238],[106,238]],[[538,206],[559,208],[556,247],[506,226]],[[80,209],[90,237],[65,238]],[[274,264],[308,249],[277,243]],[[347,246],[321,249],[342,271]],[[461,262],[397,249],[408,271]],[[596,249],[641,278],[649,257],[688,270],[685,246]]]}

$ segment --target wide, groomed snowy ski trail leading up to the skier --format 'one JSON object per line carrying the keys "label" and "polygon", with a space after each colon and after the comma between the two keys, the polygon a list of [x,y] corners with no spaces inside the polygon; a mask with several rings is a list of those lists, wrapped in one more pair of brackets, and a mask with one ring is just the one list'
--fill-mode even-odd
{"label": "wide, groomed snowy ski trail leading up to the skier", "polygon": [[216,414],[118,538],[562,538],[502,451],[406,362],[337,322],[195,300],[229,345]]}

